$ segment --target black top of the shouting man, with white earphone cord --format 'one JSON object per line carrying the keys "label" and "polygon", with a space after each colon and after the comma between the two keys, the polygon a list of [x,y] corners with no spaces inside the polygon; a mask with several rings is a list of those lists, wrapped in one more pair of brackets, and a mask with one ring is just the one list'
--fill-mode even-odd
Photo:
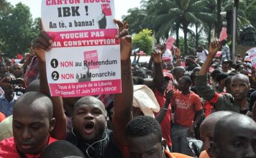
{"label": "black top of the shouting man, with white earphone cord", "polygon": [[100,140],[93,144],[86,144],[76,131],[71,131],[66,139],[66,141],[81,149],[86,158],[122,158],[121,152],[114,144],[113,132],[111,130],[106,129]]}

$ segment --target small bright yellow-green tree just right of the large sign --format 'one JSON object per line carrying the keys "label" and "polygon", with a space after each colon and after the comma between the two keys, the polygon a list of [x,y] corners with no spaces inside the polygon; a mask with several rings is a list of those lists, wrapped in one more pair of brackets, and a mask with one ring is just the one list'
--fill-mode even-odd
{"label": "small bright yellow-green tree just right of the large sign", "polygon": [[135,47],[143,50],[147,55],[150,55],[152,52],[152,30],[150,29],[142,29],[141,32],[135,34],[132,39],[132,44]]}

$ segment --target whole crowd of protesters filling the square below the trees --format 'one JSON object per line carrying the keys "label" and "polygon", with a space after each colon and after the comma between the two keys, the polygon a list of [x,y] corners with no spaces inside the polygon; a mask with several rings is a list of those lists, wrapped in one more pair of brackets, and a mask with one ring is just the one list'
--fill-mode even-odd
{"label": "whole crowd of protesters filling the square below the trees", "polygon": [[120,94],[50,96],[45,53],[53,41],[45,32],[21,62],[0,61],[0,157],[256,157],[249,57],[234,63],[226,42],[214,40],[186,57],[173,46],[173,59],[163,59],[159,44],[147,63],[131,62],[129,25],[114,22]]}

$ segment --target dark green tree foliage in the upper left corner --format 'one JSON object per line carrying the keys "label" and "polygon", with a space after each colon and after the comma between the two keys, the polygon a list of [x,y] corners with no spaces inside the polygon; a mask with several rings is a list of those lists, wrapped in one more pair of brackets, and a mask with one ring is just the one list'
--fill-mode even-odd
{"label": "dark green tree foliage in the upper left corner", "polygon": [[9,6],[8,14],[0,22],[0,52],[15,57],[17,53],[28,52],[32,40],[39,34],[38,19],[33,23],[29,7],[22,3]]}

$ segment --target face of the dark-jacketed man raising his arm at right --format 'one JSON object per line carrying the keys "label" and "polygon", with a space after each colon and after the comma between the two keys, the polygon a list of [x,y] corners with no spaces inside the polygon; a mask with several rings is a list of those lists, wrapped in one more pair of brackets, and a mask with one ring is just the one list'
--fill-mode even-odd
{"label": "face of the dark-jacketed man raising his arm at right", "polygon": [[234,77],[231,82],[231,93],[235,100],[241,100],[247,97],[249,86],[246,81],[239,77]]}

